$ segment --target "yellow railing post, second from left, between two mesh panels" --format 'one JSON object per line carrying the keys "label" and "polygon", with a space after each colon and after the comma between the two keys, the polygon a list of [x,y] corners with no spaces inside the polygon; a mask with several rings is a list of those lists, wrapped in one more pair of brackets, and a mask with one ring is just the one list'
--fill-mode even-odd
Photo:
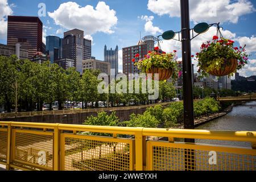
{"label": "yellow railing post, second from left, between two mesh panels", "polygon": [[59,124],[54,127],[53,138],[53,170],[60,171],[60,131]]}

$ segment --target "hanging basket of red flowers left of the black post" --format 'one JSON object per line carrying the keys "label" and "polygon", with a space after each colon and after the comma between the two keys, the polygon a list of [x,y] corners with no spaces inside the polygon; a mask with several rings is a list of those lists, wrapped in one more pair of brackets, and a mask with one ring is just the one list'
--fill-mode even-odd
{"label": "hanging basket of red flowers left of the black post", "polygon": [[[135,59],[139,58],[139,54],[135,55]],[[135,59],[132,61],[135,62]],[[177,68],[177,56],[176,51],[172,53],[166,53],[155,47],[154,51],[148,51],[147,55],[144,55],[143,59],[138,60],[134,65],[143,73],[151,73],[152,76],[156,73],[159,74],[159,80],[168,80],[169,78],[176,79]]]}

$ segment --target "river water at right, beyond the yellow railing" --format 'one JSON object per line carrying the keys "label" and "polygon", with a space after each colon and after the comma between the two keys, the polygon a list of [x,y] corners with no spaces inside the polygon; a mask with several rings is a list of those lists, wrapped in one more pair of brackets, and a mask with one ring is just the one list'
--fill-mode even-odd
{"label": "river water at right, beyond the yellow railing", "polygon": [[[256,102],[234,106],[233,110],[224,117],[214,119],[204,125],[196,127],[203,130],[227,131],[256,131]],[[196,140],[197,143],[226,144],[231,146],[251,147],[246,142],[230,142],[220,140]]]}

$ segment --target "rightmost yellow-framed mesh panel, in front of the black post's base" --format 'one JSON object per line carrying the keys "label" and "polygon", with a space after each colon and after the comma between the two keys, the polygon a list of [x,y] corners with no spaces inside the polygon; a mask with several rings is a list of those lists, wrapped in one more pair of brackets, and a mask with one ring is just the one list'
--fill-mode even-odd
{"label": "rightmost yellow-framed mesh panel, in front of the black post's base", "polygon": [[[222,152],[222,148],[224,147],[211,147],[210,150],[207,150],[207,146],[197,147],[183,144],[179,147],[179,144],[174,143],[152,143],[149,146],[150,158],[148,158],[148,163],[151,163],[150,170],[154,171],[256,170],[256,153],[254,150],[247,149],[248,154],[245,154],[245,149],[242,149],[243,154],[237,154],[240,152],[240,148],[229,148],[229,151],[233,150],[234,152],[225,152],[225,149]],[[212,155],[209,154],[210,151],[216,151],[216,163],[213,163]]]}

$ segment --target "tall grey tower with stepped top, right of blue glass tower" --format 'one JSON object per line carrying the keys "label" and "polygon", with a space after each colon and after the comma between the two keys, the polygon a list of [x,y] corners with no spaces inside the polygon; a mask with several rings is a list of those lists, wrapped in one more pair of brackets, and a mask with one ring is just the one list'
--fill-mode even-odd
{"label": "tall grey tower with stepped top, right of blue glass tower", "polygon": [[63,59],[75,60],[75,67],[82,74],[82,60],[92,56],[92,42],[84,39],[84,31],[73,29],[64,32]]}

